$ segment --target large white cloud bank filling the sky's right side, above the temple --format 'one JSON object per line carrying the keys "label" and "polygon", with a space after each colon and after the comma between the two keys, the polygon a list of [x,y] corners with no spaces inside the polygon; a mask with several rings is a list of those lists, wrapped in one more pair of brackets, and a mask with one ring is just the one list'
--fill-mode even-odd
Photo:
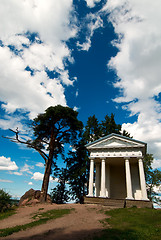
{"label": "large white cloud bank filling the sky's right side, above the temple", "polygon": [[126,103],[125,110],[137,116],[123,128],[147,142],[156,159],[161,159],[160,9],[160,0],[109,0],[103,8],[118,35],[113,44],[119,51],[108,63],[118,76],[115,101]]}

